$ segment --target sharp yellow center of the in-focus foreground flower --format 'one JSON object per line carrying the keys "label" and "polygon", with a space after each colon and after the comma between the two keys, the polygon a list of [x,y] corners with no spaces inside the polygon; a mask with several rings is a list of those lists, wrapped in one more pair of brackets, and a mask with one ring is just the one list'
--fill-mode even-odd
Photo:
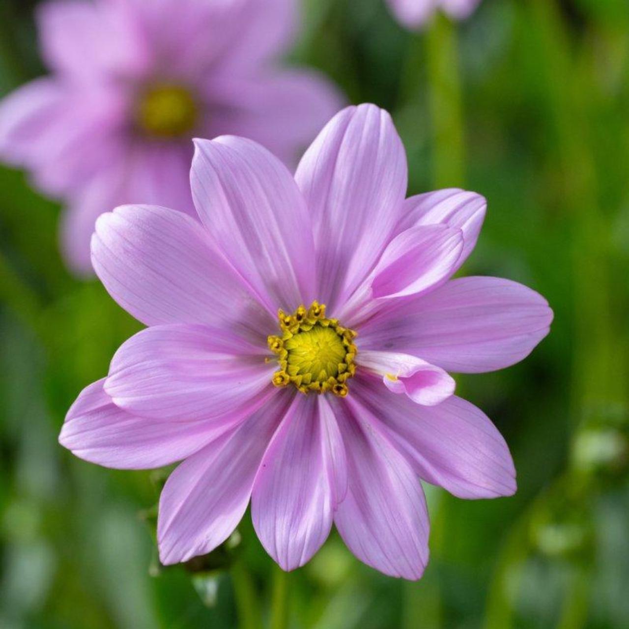
{"label": "sharp yellow center of the in-focus foreground flower", "polygon": [[277,355],[276,387],[294,384],[302,393],[315,391],[344,398],[347,381],[356,372],[356,333],[325,316],[325,304],[313,301],[308,310],[299,306],[292,315],[280,310],[281,336],[269,337],[269,349]]}

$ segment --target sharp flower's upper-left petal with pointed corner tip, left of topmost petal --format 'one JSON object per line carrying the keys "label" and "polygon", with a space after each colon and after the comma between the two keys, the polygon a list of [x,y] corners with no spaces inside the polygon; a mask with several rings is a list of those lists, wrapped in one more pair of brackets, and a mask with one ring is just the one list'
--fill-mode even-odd
{"label": "sharp flower's upper-left petal with pointed corner tip, left of topmost petal", "polygon": [[310,218],[291,174],[259,144],[196,140],[192,197],[226,259],[270,313],[314,299]]}

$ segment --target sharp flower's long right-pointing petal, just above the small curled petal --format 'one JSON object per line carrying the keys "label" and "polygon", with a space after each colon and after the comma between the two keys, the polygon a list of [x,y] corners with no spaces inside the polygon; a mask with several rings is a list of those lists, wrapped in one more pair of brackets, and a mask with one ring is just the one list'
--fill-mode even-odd
{"label": "sharp flower's long right-pointing petal, just above the small curled petal", "polygon": [[553,313],[537,292],[497,277],[462,277],[400,300],[360,329],[360,347],[407,352],[450,372],[479,373],[524,359]]}

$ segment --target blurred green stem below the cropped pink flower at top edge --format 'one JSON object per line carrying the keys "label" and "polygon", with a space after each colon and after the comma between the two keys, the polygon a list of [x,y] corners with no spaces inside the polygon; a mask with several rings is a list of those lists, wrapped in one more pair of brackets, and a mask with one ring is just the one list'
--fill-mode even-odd
{"label": "blurred green stem below the cropped pink flower at top edge", "polygon": [[426,33],[426,69],[433,145],[433,185],[464,182],[464,130],[457,28],[442,14]]}

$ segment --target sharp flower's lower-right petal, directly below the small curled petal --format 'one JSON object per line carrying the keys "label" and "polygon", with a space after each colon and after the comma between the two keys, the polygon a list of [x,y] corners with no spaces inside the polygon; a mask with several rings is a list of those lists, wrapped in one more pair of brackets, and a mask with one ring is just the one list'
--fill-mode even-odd
{"label": "sharp flower's lower-right petal, directly below the small curled petal", "polygon": [[438,406],[418,406],[406,396],[382,394],[374,384],[357,381],[352,392],[397,435],[422,479],[459,498],[515,493],[509,448],[480,409],[457,396]]}

